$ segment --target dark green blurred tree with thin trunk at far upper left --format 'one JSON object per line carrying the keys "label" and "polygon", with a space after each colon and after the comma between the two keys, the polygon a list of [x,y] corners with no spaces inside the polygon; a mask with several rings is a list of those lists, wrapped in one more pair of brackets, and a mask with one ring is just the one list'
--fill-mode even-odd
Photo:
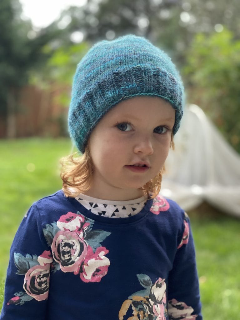
{"label": "dark green blurred tree with thin trunk at far upper left", "polygon": [[6,119],[9,138],[16,135],[19,89],[27,83],[29,70],[47,59],[43,46],[62,32],[49,26],[36,34],[31,22],[20,15],[18,0],[0,1],[0,115]]}

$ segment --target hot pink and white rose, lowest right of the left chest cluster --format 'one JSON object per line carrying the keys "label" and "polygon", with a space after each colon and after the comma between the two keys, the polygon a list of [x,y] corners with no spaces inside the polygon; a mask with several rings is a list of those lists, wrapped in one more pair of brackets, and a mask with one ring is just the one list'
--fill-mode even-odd
{"label": "hot pink and white rose, lowest right of the left chest cluster", "polygon": [[80,278],[84,282],[100,282],[102,277],[108,273],[110,261],[105,254],[109,251],[105,247],[98,247],[93,253],[92,248],[88,247],[88,254],[82,265]]}

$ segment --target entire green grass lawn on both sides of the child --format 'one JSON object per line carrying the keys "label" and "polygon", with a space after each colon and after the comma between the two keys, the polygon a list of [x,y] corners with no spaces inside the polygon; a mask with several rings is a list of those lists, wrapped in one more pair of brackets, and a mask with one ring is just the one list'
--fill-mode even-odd
{"label": "entire green grass lawn on both sides of the child", "polygon": [[[0,307],[13,236],[33,201],[61,188],[59,159],[69,139],[0,140]],[[208,208],[190,212],[205,320],[238,319],[240,314],[240,220]]]}

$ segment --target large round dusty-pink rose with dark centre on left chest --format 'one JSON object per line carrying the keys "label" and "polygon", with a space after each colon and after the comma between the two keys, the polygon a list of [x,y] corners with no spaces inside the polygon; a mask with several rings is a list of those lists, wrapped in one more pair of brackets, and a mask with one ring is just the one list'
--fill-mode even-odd
{"label": "large round dusty-pink rose with dark centre on left chest", "polygon": [[74,231],[58,231],[52,240],[53,259],[63,272],[76,272],[87,255],[87,244]]}

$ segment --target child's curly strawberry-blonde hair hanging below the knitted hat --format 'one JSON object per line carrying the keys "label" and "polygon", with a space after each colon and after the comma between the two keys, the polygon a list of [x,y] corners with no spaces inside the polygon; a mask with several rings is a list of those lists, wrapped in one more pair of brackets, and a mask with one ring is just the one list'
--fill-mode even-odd
{"label": "child's curly strawberry-blonde hair hanging below the knitted hat", "polygon": [[[173,134],[170,148],[174,150]],[[79,153],[75,152],[72,155],[62,158],[61,164],[62,169],[60,176],[63,181],[62,190],[66,196],[74,198],[79,195],[79,193],[84,193],[90,189],[94,166],[88,145],[83,155],[79,156]],[[148,198],[154,198],[159,193],[164,172],[165,167],[163,166],[156,177],[149,180],[140,188]]]}

